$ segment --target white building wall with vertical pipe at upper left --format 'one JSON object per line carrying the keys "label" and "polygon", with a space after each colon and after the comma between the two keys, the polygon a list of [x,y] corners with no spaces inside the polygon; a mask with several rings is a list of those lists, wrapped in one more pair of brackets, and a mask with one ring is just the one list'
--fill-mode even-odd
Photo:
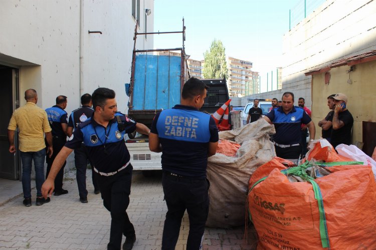
{"label": "white building wall with vertical pipe at upper left", "polygon": [[[145,8],[152,11],[147,31],[153,31],[153,7],[153,0],[140,1],[138,32],[144,31]],[[131,1],[7,0],[0,8],[0,64],[20,68],[21,105],[23,92],[35,88],[39,106],[54,105],[63,94],[70,112],[80,105],[82,93],[102,86],[116,91],[118,109],[126,112],[124,83],[130,79],[134,27]],[[153,48],[153,37],[139,35],[136,48]]]}

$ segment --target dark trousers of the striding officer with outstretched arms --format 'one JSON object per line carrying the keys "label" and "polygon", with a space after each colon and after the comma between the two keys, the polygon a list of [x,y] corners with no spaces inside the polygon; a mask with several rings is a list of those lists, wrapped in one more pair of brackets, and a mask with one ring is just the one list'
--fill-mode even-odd
{"label": "dark trousers of the striding officer with outstretched arms", "polygon": [[103,176],[95,172],[103,205],[111,213],[110,242],[107,249],[120,249],[122,235],[135,234],[126,209],[129,205],[130,184],[132,182],[132,166],[130,164],[114,175]]}

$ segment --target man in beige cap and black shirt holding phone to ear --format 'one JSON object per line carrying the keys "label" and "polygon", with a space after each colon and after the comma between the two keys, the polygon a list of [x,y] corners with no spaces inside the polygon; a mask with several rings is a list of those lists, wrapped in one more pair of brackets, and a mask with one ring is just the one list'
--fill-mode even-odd
{"label": "man in beige cap and black shirt holding phone to ear", "polygon": [[335,106],[330,143],[335,148],[341,143],[351,144],[351,129],[354,119],[346,108],[347,96],[344,93],[337,93],[333,98]]}

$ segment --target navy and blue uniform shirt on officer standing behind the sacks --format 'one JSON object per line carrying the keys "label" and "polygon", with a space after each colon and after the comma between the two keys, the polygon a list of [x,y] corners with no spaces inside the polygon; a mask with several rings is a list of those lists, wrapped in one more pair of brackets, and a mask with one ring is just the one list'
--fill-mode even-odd
{"label": "navy and blue uniform shirt on officer standing behind the sacks", "polygon": [[308,124],[311,117],[299,106],[293,106],[287,114],[282,107],[273,108],[266,116],[273,122],[276,133],[273,140],[278,144],[291,145],[301,141],[301,124]]}

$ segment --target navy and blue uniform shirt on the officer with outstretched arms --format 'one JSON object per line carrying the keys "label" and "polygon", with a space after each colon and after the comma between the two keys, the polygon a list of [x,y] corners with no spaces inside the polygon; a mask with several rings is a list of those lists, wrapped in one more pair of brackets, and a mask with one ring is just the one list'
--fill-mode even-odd
{"label": "navy and blue uniform shirt on the officer with outstretched arms", "polygon": [[[94,115],[95,112],[93,117]],[[119,130],[116,118],[110,120],[107,127],[104,127],[91,117],[77,126],[65,146],[76,149],[84,142],[89,158],[98,171],[108,173],[118,170],[130,159],[124,134],[136,129],[135,121],[124,115],[119,116],[125,124],[125,130]],[[132,167],[129,165],[126,169],[131,171]]]}

